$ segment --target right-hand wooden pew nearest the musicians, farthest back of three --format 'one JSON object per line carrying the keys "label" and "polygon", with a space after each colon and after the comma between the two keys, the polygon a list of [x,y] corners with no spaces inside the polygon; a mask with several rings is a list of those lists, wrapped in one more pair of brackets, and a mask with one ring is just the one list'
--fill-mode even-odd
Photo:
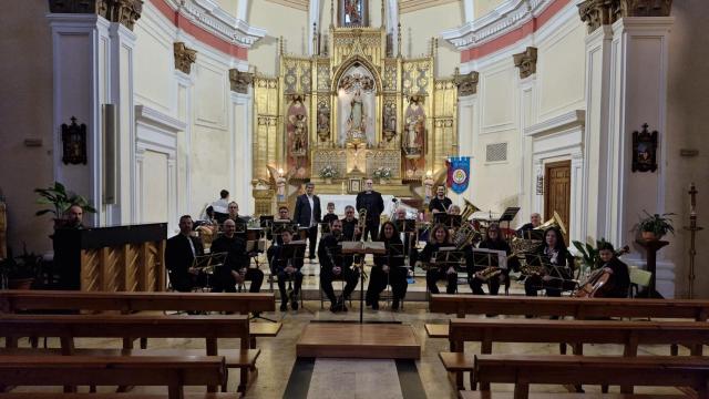
{"label": "right-hand wooden pew nearest the musicians, farthest back of three", "polygon": [[[431,313],[465,315],[571,316],[583,320],[604,317],[675,318],[707,321],[709,300],[551,298],[525,296],[431,295]],[[425,325],[431,337],[446,335],[445,325]]]}

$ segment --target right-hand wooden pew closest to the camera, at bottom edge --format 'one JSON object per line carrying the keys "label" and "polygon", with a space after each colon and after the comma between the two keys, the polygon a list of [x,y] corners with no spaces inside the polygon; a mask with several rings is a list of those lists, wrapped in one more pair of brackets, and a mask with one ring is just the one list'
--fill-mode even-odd
{"label": "right-hand wooden pew closest to the camera, at bottom edge", "polygon": [[633,386],[682,386],[709,398],[707,358],[482,355],[474,361],[481,391],[490,391],[491,382],[514,383],[515,399],[526,399],[531,383],[619,385],[621,393],[633,393]]}

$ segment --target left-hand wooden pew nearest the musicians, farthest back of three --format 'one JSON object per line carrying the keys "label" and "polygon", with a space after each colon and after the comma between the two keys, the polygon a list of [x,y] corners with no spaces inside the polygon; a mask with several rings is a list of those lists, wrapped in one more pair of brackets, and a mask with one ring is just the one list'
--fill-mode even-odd
{"label": "left-hand wooden pew nearest the musicians, farthest back of three", "polygon": [[[274,294],[267,293],[99,293],[63,290],[2,290],[0,291],[0,313],[42,310],[116,310],[131,314],[145,310],[184,311],[234,311],[240,315],[249,313],[275,311]],[[250,348],[256,348],[256,338],[275,337],[282,327],[280,323],[253,323]],[[138,336],[140,337],[140,336]],[[133,341],[124,341],[124,348],[133,347]],[[145,349],[145,341],[141,348]]]}

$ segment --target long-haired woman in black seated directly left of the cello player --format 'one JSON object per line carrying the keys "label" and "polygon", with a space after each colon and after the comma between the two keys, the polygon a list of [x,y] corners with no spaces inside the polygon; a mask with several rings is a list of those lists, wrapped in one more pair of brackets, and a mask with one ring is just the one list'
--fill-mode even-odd
{"label": "long-haired woman in black seated directly left of the cello player", "polygon": [[[544,288],[546,296],[562,296],[564,282],[572,279],[574,258],[566,249],[564,236],[558,228],[551,227],[544,233],[544,245],[536,255],[538,256],[533,260],[542,258],[545,264],[544,272],[528,276],[524,280],[524,291],[527,296],[536,296],[536,291]],[[532,262],[531,265],[538,266],[538,262]]]}

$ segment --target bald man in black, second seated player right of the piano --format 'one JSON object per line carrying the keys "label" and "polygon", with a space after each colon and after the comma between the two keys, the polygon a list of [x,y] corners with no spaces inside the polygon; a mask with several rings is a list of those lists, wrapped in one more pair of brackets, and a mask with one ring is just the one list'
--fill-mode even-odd
{"label": "bald man in black, second seated player right of the piano", "polygon": [[236,293],[236,285],[251,282],[249,293],[258,293],[264,282],[264,272],[249,268],[250,258],[246,253],[246,242],[236,236],[236,223],[224,222],[224,234],[212,243],[213,254],[227,253],[224,266],[216,267],[212,280],[213,293]]}

